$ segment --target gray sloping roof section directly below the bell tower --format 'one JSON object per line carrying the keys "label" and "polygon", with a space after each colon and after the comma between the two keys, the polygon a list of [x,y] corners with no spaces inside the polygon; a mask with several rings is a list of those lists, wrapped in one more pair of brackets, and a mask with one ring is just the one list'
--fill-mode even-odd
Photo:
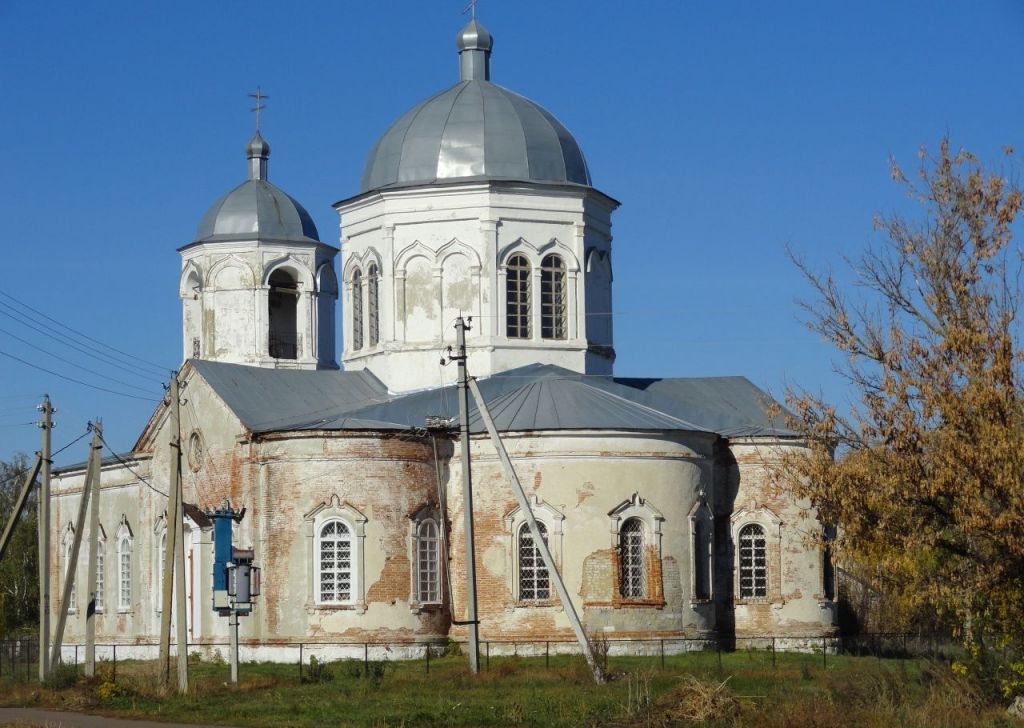
{"label": "gray sloping roof section directly below the bell tower", "polygon": [[202,359],[191,366],[253,432],[302,429],[388,397],[368,371],[262,369]]}

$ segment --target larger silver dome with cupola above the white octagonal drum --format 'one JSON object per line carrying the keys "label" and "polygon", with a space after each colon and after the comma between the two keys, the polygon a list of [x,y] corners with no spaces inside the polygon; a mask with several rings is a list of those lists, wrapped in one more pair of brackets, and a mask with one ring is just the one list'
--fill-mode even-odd
{"label": "larger silver dome with cupola above the white octagonal drum", "polygon": [[538,103],[490,83],[490,34],[473,19],[457,44],[462,80],[384,132],[359,191],[457,179],[589,186],[587,162],[568,129]]}

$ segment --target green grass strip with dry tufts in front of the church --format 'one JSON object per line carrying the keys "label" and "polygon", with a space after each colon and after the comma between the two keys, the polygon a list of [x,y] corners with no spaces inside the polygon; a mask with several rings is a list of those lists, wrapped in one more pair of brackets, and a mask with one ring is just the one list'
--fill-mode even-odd
{"label": "green grass strip with dry tufts in front of the church", "polygon": [[[379,666],[379,667],[375,667]],[[326,666],[300,682],[296,665],[248,663],[241,685],[227,666],[193,661],[189,694],[162,694],[156,666],[118,662],[72,687],[0,681],[0,701],[119,717],[245,726],[668,726],[711,705],[720,726],[1010,726],[946,667],[924,660],[770,652],[612,657],[595,685],[579,657],[492,658],[472,676],[465,657],[360,660]],[[382,672],[381,672],[382,671]],[[308,678],[308,666],[306,667]],[[690,677],[692,676],[692,677]],[[696,682],[699,681],[699,682]],[[722,686],[724,683],[723,687]],[[716,702],[716,699],[718,702]],[[717,705],[717,708],[716,708]]]}

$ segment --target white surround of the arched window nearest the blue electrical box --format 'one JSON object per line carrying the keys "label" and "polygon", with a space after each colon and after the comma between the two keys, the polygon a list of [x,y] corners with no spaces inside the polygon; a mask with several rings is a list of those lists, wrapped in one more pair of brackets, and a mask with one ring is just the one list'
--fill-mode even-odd
{"label": "white surround of the arched window nearest the blue electrical box", "polygon": [[[337,495],[331,496],[327,502],[321,503],[307,513],[303,520],[306,523],[306,575],[308,589],[307,603],[310,606],[324,609],[367,609],[366,602],[366,538],[367,517],[348,503],[343,503]],[[321,599],[321,533],[324,526],[332,521],[343,523],[351,537],[351,587],[349,599],[345,601],[325,601]]]}

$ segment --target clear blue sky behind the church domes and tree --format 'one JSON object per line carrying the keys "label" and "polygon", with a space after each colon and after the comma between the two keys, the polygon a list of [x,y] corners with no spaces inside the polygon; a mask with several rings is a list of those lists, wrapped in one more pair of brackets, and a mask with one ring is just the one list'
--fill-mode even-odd
{"label": "clear blue sky behind the church domes and tree", "polygon": [[[177,367],[175,251],[244,179],[246,94],[270,95],[271,180],[337,245],[330,205],[356,191],[374,141],[457,80],[463,6],[0,2],[0,292]],[[493,80],[554,113],[623,203],[620,375],[741,374],[842,401],[833,352],[800,323],[808,291],[785,246],[820,266],[862,249],[873,213],[906,207],[890,155],[912,166],[943,135],[986,160],[1024,148],[1018,0],[480,0],[479,18],[496,38]],[[137,392],[81,367],[97,369],[154,399],[166,380],[105,369],[7,316],[0,330],[0,351],[66,376]],[[60,410],[55,446],[101,417],[128,449],[153,409],[0,356],[0,458],[38,447],[19,423],[43,392]]]}

